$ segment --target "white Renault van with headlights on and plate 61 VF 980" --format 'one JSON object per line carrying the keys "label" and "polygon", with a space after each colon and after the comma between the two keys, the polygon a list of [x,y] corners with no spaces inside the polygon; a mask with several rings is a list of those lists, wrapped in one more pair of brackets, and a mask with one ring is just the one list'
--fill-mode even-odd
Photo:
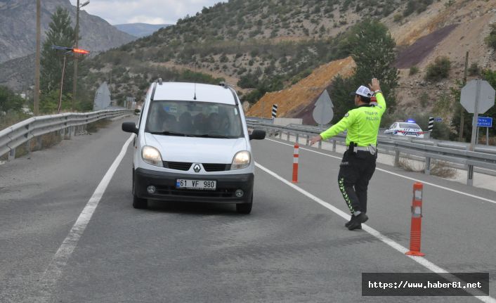
{"label": "white Renault van with headlights on and plate 61 VF 980", "polygon": [[153,83],[145,98],[133,156],[133,207],[148,199],[234,203],[252,211],[254,160],[242,105],[228,85]]}

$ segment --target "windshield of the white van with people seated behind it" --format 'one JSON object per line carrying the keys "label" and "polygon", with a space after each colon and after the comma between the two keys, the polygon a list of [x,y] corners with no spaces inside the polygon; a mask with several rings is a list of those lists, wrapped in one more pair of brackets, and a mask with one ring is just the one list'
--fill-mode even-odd
{"label": "windshield of the white van with people seated behind it", "polygon": [[194,101],[152,101],[145,131],[165,136],[241,138],[236,105]]}

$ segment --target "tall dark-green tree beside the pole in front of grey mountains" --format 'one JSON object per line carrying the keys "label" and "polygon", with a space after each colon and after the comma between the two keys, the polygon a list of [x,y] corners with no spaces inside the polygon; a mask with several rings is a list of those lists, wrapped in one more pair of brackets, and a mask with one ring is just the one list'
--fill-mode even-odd
{"label": "tall dark-green tree beside the pole in front of grey mountains", "polygon": [[[57,8],[52,15],[52,20],[46,31],[46,40],[41,51],[41,94],[50,95],[51,91],[60,90],[60,79],[62,78],[62,68],[64,61],[64,52],[51,49],[52,45],[72,47],[74,45],[74,29],[71,27],[71,20],[67,10]],[[67,54],[65,62],[65,75],[63,94],[69,94],[72,91],[72,54]],[[43,98],[46,101],[53,98]],[[53,108],[53,106],[43,106],[44,108]]]}

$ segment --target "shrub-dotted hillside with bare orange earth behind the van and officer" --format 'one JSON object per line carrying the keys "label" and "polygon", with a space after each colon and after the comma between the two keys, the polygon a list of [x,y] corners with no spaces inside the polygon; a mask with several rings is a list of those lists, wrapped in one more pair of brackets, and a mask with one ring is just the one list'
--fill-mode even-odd
{"label": "shrub-dotted hillside with bare orange earth behind the van and officer", "polygon": [[[117,68],[116,96],[139,98],[140,86],[167,70],[196,70],[226,79],[243,98],[256,101],[261,91],[250,94],[262,82],[262,92],[278,91],[348,56],[343,33],[363,18],[379,18],[398,45],[398,105],[416,106],[420,94],[433,102],[460,78],[466,51],[470,63],[495,68],[495,56],[483,43],[495,7],[496,0],[231,0],[103,53],[89,62],[90,74],[101,82]],[[424,82],[427,65],[441,55],[452,61],[450,76]],[[419,70],[415,75],[412,66]]]}

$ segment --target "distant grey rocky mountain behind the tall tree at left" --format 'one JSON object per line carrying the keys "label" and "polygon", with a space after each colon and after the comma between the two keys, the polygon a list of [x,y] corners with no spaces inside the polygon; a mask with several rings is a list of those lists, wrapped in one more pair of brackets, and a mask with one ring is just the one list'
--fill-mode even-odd
{"label": "distant grey rocky mountain behind the tall tree at left", "polygon": [[[69,0],[41,1],[41,41],[57,6],[66,8],[76,20],[76,7]],[[79,46],[92,52],[105,51],[136,37],[117,30],[107,21],[79,11]],[[0,63],[34,53],[36,48],[36,1],[0,0]]]}

